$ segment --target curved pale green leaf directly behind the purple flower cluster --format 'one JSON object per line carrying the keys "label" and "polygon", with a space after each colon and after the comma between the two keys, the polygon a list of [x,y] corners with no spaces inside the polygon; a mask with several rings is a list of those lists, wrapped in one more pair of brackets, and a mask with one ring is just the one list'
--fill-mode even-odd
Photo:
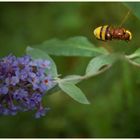
{"label": "curved pale green leaf directly behind the purple flower cluster", "polygon": [[51,68],[49,70],[47,70],[46,73],[50,74],[53,77],[57,77],[56,65],[55,65],[54,61],[52,60],[52,58],[47,53],[45,53],[42,50],[34,49],[34,48],[31,48],[31,47],[27,47],[26,53],[28,55],[32,56],[33,59],[44,59],[44,60],[47,59],[47,60],[50,60]]}

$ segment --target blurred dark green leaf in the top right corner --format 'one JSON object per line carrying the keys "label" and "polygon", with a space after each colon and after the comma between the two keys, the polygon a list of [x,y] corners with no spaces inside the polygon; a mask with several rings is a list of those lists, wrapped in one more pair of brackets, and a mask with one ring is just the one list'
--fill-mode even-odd
{"label": "blurred dark green leaf in the top right corner", "polygon": [[140,18],[140,3],[139,2],[125,2],[125,6],[127,6],[132,13],[137,17]]}

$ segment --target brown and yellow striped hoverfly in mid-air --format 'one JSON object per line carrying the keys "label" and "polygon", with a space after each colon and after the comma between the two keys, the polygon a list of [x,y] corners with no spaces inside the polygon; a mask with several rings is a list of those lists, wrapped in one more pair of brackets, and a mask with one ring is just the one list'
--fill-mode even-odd
{"label": "brown and yellow striped hoverfly in mid-air", "polygon": [[[123,22],[126,20],[129,13],[130,11],[125,16]],[[121,23],[121,25],[123,24],[123,22]],[[93,33],[97,39],[102,41],[112,40],[112,39],[130,41],[132,39],[132,33],[121,26],[115,28],[109,25],[104,25],[104,26],[97,27],[93,31]]]}

